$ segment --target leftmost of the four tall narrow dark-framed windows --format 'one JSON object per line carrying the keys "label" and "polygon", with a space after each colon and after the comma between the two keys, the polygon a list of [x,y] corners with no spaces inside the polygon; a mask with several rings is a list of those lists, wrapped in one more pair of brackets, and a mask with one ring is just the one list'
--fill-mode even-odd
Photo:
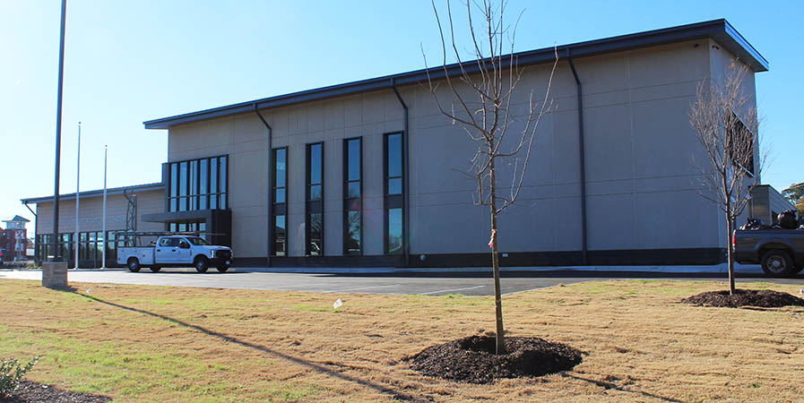
{"label": "leftmost of the four tall narrow dark-framed windows", "polygon": [[288,254],[288,148],[273,150],[272,167],[272,255]]}

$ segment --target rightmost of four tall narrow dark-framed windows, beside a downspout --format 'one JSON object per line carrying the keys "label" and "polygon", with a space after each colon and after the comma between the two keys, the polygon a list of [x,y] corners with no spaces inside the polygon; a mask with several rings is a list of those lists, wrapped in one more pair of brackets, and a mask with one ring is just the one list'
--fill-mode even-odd
{"label": "rightmost of four tall narrow dark-framed windows, beside a downspout", "polygon": [[385,253],[402,254],[402,133],[385,134]]}

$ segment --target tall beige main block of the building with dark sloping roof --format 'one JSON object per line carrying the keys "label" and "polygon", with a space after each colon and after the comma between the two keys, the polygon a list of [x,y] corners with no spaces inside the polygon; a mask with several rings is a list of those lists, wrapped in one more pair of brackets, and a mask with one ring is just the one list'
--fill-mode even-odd
{"label": "tall beige main block of the building with dark sloping roof", "polygon": [[[531,90],[543,96],[554,52],[517,55],[515,107]],[[698,86],[734,61],[748,66],[754,99],[765,59],[724,20],[558,56],[523,195],[501,218],[502,263],[721,262],[725,222],[696,193],[692,160],[703,154],[688,113]],[[145,122],[167,130],[169,152],[141,226],[215,234],[241,266],[488,264],[488,211],[464,174],[477,145],[439,113],[426,81],[423,70],[400,73]]]}

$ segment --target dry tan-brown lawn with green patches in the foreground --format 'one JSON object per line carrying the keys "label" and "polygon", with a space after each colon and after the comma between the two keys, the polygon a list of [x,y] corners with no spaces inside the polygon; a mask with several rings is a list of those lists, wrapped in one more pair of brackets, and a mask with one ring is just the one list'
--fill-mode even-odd
{"label": "dry tan-brown lawn with green patches in the foreground", "polygon": [[[0,357],[39,355],[30,380],[115,401],[804,399],[804,308],[679,304],[724,287],[712,282],[608,281],[506,296],[511,335],[587,355],[569,373],[493,385],[427,378],[403,361],[494,329],[489,297],[73,287],[0,281]],[[333,310],[338,297],[344,304]]]}

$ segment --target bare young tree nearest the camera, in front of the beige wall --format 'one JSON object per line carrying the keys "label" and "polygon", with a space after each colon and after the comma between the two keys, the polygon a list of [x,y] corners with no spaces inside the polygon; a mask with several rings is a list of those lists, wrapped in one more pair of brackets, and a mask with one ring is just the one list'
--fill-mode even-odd
{"label": "bare young tree nearest the camera, in front of the beige wall", "polygon": [[[558,64],[558,55],[545,83],[544,98],[534,100],[531,89],[527,106],[515,105],[514,94],[524,69],[517,64],[514,56],[516,23],[509,26],[504,20],[506,1],[494,4],[491,0],[482,0],[482,3],[466,0],[463,5],[468,18],[470,60],[464,62],[458,50],[450,2],[446,2],[449,30],[447,39],[434,1],[433,12],[441,33],[445,78],[436,82],[428,73],[428,84],[441,113],[454,124],[463,125],[469,138],[478,142],[477,153],[471,159],[471,172],[477,179],[475,204],[487,207],[491,216],[491,238],[488,244],[494,274],[497,354],[504,354],[506,342],[500,296],[497,254],[497,234],[500,228],[497,225],[497,216],[514,204],[522,190],[536,129],[541,117],[549,112],[549,90]],[[474,25],[478,20],[480,28]],[[506,50],[508,53],[504,54]],[[455,57],[456,69],[448,67],[448,55]],[[448,87],[445,98],[449,99],[439,99],[439,84]],[[449,106],[445,107],[447,102]],[[523,109],[523,112],[517,113],[515,109]],[[509,128],[515,133],[512,134],[513,137],[506,138]],[[498,184],[500,178],[497,172],[502,166],[513,167],[509,189],[500,188]]]}

